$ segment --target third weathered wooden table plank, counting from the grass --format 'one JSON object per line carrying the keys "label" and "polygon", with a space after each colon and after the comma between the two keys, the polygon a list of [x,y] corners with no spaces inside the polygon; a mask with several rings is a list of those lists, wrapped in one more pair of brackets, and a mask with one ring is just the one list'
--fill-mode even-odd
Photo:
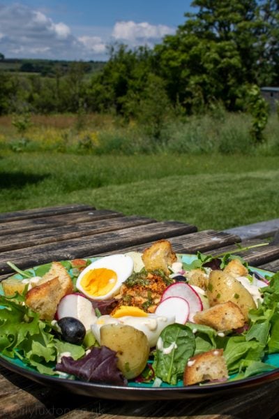
{"label": "third weathered wooden table plank, counting from the grass", "polygon": [[45,230],[28,231],[18,233],[17,235],[3,235],[0,241],[0,252],[38,246],[39,244],[45,243],[61,242],[76,237],[85,237],[150,223],[156,223],[156,220],[135,215],[117,216],[111,219],[100,219],[98,221],[70,224],[68,226],[47,228]]}

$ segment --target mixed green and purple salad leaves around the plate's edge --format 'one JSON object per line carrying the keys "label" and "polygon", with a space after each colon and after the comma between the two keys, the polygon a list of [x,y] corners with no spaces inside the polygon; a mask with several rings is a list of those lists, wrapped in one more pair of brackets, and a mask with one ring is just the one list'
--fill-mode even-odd
{"label": "mixed green and purple salad leaves around the plate's edge", "polygon": [[[230,256],[230,259],[236,257],[239,258]],[[183,263],[183,268],[192,270],[209,266],[211,263],[217,263],[218,267],[222,268],[228,260],[228,253],[213,257],[198,252],[197,259],[190,264]],[[80,267],[84,267],[84,263],[90,263],[90,260],[73,262],[64,261],[63,265],[75,283]],[[41,265],[24,272],[18,270],[15,265],[13,268],[16,268],[17,278],[20,278],[19,275],[33,277],[43,276],[50,269],[50,265]],[[20,358],[25,365],[36,368],[42,374],[54,375],[60,374],[60,371],[75,374],[86,380],[93,378],[96,381],[105,377],[105,381],[123,385],[123,377],[116,369],[113,351],[108,353],[103,349],[93,348],[91,355],[85,355],[84,346],[62,341],[52,322],[41,321],[38,314],[24,305],[24,294],[17,294],[13,298],[0,295],[1,354],[8,358]],[[233,380],[278,368],[267,361],[270,354],[279,353],[279,272],[270,278],[268,286],[262,288],[262,295],[263,300],[257,309],[249,312],[248,328],[234,331],[233,334],[224,335],[209,326],[194,323],[167,326],[160,335],[160,345],[154,353],[152,367],[155,377],[170,385],[176,385],[183,376],[188,358],[215,348],[223,348],[229,374],[234,374],[231,378]],[[112,303],[113,301],[110,302]],[[65,352],[70,353],[70,356],[63,357],[61,362],[57,363],[57,358]],[[95,362],[94,356],[96,364],[92,363]],[[95,367],[89,367],[91,363]],[[98,368],[98,365],[102,367]]]}

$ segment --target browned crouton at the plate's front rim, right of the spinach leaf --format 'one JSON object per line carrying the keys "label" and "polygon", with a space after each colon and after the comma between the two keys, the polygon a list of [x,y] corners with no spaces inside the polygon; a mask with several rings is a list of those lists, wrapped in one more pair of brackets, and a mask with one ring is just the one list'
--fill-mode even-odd
{"label": "browned crouton at the plate's front rim, right of the spinach leaf", "polygon": [[199,353],[187,362],[183,384],[193,385],[203,381],[224,380],[229,376],[223,349]]}

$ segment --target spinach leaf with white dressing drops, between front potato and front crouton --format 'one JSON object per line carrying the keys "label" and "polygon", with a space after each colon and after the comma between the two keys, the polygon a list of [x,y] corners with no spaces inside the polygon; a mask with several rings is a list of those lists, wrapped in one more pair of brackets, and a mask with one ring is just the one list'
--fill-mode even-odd
{"label": "spinach leaf with white dressing drops, between front potato and front crouton", "polygon": [[156,377],[176,385],[194,352],[195,335],[190,328],[177,323],[167,326],[160,334],[154,356]]}

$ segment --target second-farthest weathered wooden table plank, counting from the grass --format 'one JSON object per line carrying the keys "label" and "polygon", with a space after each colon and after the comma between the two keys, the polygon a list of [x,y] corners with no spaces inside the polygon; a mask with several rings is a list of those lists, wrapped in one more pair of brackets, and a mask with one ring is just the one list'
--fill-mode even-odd
{"label": "second-farthest weathered wooden table plank, counting from the grass", "polygon": [[70,224],[88,223],[101,219],[109,219],[115,216],[123,216],[123,214],[111,210],[86,210],[56,216],[10,221],[0,224],[0,235],[44,230],[46,228],[68,226]]}

